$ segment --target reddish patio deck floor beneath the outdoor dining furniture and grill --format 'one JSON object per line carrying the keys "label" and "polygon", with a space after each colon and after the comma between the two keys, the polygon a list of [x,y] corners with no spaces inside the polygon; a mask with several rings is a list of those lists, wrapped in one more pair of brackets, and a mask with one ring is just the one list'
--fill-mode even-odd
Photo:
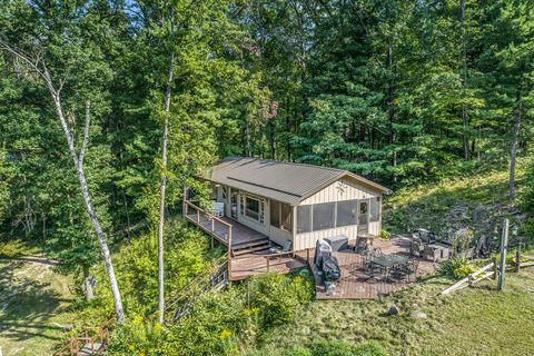
{"label": "reddish patio deck floor beneath the outdoor dining furniture and grill", "polygon": [[[375,247],[379,247],[385,255],[406,254],[409,255],[409,239],[405,237],[395,237],[389,240],[376,239]],[[317,274],[317,268],[310,260],[310,267],[315,276],[316,296],[318,300],[328,299],[365,299],[376,298],[388,295],[395,290],[405,288],[406,281],[385,281],[380,279],[368,279],[368,276],[362,271],[362,255],[352,250],[334,253],[342,269],[342,279],[335,284],[335,288],[327,291],[322,276]],[[310,257],[313,258],[313,256]],[[436,269],[437,265],[428,260],[419,260],[417,276],[426,275]],[[415,278],[412,277],[412,280]],[[414,283],[414,281],[412,281]]]}

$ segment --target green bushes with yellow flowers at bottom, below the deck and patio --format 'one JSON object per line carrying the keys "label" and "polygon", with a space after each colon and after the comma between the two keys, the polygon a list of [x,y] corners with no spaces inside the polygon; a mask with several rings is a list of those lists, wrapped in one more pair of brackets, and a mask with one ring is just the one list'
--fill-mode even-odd
{"label": "green bushes with yellow flowers at bottom, below the deck and patio", "polygon": [[243,345],[290,322],[310,300],[309,273],[266,274],[204,295],[192,312],[165,328],[135,319],[113,338],[112,355],[234,355]]}

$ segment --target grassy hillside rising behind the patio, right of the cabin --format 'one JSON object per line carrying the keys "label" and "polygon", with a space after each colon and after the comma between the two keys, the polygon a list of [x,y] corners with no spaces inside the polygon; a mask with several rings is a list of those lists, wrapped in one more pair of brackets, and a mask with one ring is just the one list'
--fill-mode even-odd
{"label": "grassy hillside rising behind the patio, right of the cabin", "polygon": [[[520,160],[516,172],[520,197],[525,167],[526,159]],[[396,191],[385,201],[384,228],[406,233],[422,227],[444,236],[469,227],[478,237],[493,235],[495,225],[505,217],[521,225],[526,216],[507,198],[506,168]]]}

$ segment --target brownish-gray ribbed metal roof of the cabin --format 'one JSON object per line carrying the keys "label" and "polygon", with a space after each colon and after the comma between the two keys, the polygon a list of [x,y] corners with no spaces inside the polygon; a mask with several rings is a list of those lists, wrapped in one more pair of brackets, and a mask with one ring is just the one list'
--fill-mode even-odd
{"label": "brownish-gray ribbed metal roof of the cabin", "polygon": [[389,191],[343,169],[243,157],[225,158],[200,178],[297,205],[345,176],[350,176],[372,189]]}

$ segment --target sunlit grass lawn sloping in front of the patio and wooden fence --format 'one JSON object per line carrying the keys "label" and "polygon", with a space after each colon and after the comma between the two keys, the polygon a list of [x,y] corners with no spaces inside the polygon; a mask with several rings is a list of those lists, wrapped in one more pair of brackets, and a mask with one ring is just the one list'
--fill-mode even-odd
{"label": "sunlit grass lawn sloping in front of the patio and wooden fence", "polygon": [[[435,277],[383,300],[313,303],[248,355],[281,355],[316,340],[368,339],[390,355],[527,355],[534,340],[534,268],[507,276],[503,293],[490,280],[441,297],[451,281]],[[393,304],[400,313],[388,316]],[[427,318],[414,318],[414,312]]]}

